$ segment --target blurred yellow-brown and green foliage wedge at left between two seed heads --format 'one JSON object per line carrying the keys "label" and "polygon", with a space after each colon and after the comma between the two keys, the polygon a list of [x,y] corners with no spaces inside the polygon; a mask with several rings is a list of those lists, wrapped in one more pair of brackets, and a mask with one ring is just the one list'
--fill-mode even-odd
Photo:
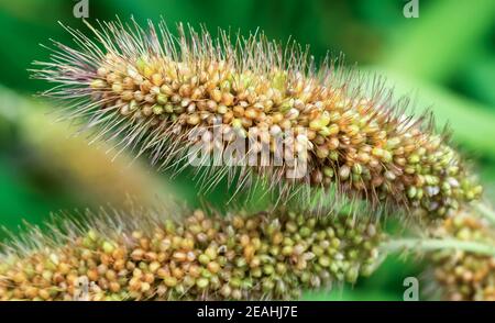
{"label": "blurred yellow-brown and green foliage wedge at left between two seed heads", "polygon": [[125,154],[112,160],[109,145],[89,146],[85,136],[72,135],[77,129],[56,123],[41,102],[0,87],[0,116],[9,127],[0,154],[7,179],[0,181],[0,211],[8,229],[21,219],[38,224],[59,209],[122,209],[131,197],[153,205],[169,194],[152,169]]}

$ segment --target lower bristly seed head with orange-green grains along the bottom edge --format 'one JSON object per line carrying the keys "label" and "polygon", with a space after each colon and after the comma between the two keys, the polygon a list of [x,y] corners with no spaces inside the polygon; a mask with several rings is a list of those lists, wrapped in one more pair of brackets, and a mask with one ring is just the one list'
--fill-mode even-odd
{"label": "lower bristly seed head with orange-green grains along the bottom edge", "polygon": [[370,275],[384,238],[375,224],[286,211],[133,221],[150,230],[33,234],[36,248],[0,257],[0,300],[295,299]]}

